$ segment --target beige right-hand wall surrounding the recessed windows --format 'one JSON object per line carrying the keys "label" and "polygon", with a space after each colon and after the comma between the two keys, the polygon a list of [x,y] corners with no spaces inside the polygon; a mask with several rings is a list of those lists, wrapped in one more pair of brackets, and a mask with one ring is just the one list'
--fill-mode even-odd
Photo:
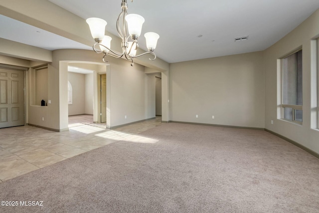
{"label": "beige right-hand wall surrounding the recessed windows", "polygon": [[[319,153],[317,127],[317,58],[316,39],[319,37],[319,10],[292,32],[265,50],[265,128],[285,136]],[[303,49],[303,124],[281,120],[280,65],[277,61],[297,48]],[[274,124],[271,124],[271,120]]]}

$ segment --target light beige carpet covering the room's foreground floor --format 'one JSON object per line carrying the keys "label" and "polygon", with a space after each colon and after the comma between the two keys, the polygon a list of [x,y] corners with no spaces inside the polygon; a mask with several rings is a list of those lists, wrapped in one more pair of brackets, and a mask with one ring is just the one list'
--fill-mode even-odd
{"label": "light beige carpet covering the room's foreground floor", "polygon": [[[0,212],[318,213],[319,159],[265,131],[169,123],[0,184]],[[146,142],[146,141],[144,141]]]}

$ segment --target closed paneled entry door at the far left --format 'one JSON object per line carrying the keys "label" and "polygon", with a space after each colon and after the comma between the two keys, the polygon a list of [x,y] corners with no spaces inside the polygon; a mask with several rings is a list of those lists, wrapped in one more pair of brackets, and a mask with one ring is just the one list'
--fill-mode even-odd
{"label": "closed paneled entry door at the far left", "polygon": [[24,72],[0,68],[0,128],[24,125]]}

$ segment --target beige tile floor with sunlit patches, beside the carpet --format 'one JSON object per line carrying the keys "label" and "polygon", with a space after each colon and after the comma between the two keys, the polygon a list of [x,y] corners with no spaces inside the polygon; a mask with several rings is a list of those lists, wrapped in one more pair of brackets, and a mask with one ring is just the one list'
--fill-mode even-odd
{"label": "beige tile floor with sunlit patches, beside the carpet", "polygon": [[161,125],[161,117],[116,129],[93,124],[89,115],[70,116],[69,131],[31,126],[0,129],[0,182],[123,140]]}

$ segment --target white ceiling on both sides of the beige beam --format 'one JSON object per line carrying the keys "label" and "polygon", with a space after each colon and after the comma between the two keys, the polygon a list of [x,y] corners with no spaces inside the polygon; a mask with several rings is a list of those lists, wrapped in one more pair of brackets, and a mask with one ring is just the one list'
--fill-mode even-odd
{"label": "white ceiling on both sides of the beige beam", "polygon": [[[117,35],[121,0],[49,1],[84,19],[103,18],[108,22],[107,31]],[[160,34],[157,56],[173,63],[265,50],[315,12],[319,0],[128,0],[128,7],[129,13],[145,18],[142,34]],[[50,50],[91,49],[18,22],[0,16],[0,37]],[[29,33],[17,33],[16,25],[20,32],[23,29]],[[48,33],[50,42],[34,39],[37,33]],[[247,40],[235,42],[235,37],[247,35]],[[139,45],[147,49],[144,36],[140,36]]]}

